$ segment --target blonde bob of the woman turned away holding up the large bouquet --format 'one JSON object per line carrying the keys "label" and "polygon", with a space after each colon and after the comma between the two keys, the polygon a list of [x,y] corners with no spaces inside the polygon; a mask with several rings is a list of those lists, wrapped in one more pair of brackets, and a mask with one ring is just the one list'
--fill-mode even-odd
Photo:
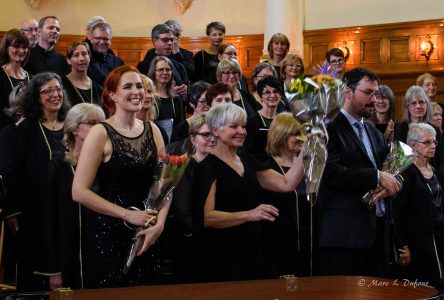
{"label": "blonde bob of the woman turned away holding up the large bouquet", "polygon": [[287,140],[291,135],[299,134],[301,124],[289,112],[278,114],[273,122],[267,135],[267,147],[265,152],[270,156],[279,156],[289,151]]}

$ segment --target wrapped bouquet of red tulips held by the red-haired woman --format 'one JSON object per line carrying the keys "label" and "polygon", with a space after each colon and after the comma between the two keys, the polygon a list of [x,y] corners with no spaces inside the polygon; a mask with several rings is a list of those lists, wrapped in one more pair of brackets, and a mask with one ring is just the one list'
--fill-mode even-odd
{"label": "wrapped bouquet of red tulips held by the red-haired woman", "polygon": [[[174,151],[171,150],[170,153],[174,153]],[[145,210],[159,211],[165,203],[170,201],[170,195],[185,173],[189,161],[188,153],[181,155],[160,153],[158,155],[157,165],[153,175],[153,183],[150,192],[144,201]],[[154,224],[156,224],[156,220],[151,221],[146,227],[137,228],[136,232]],[[125,275],[128,273],[137,253],[142,248],[144,240],[144,236],[133,238],[123,270]]]}

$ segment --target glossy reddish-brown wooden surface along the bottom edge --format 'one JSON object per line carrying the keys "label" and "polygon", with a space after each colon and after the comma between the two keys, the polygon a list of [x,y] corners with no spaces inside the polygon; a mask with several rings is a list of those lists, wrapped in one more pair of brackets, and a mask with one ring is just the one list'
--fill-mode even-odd
{"label": "glossy reddish-brown wooden surface along the bottom edge", "polygon": [[[285,299],[425,299],[437,291],[413,282],[353,276],[301,277],[298,287],[288,291],[286,279],[216,283],[137,286],[131,288],[73,291],[73,297],[51,293],[50,299],[74,300],[285,300]],[[291,288],[291,287],[290,287]]]}

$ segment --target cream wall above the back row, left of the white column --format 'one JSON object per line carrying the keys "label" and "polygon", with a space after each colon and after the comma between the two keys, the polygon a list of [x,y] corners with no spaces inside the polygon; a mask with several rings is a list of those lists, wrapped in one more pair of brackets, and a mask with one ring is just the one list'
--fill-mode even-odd
{"label": "cream wall above the back row, left of the white column", "polygon": [[0,5],[2,31],[18,27],[27,17],[56,15],[62,34],[83,34],[88,19],[100,15],[111,24],[114,36],[149,36],[154,25],[168,19],[182,24],[184,36],[205,36],[212,21],[224,23],[228,35],[264,32],[263,0],[194,0],[184,15],[176,12],[174,0],[41,0],[38,10],[29,0],[1,0]]}

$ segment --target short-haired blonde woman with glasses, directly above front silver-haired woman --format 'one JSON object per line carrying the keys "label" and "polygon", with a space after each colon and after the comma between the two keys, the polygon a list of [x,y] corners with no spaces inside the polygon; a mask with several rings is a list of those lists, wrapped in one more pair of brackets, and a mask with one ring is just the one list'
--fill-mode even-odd
{"label": "short-haired blonde woman with glasses, directly above front silver-haired woman", "polygon": [[233,103],[242,107],[248,116],[252,116],[260,109],[253,96],[238,88],[242,71],[237,60],[225,59],[217,65],[217,81],[227,84],[233,91]]}

